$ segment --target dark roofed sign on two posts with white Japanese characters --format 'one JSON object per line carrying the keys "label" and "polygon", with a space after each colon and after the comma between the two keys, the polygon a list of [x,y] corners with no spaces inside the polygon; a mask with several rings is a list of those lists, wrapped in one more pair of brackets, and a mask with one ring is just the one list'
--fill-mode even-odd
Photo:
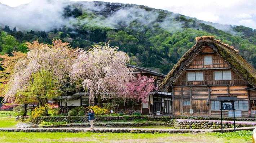
{"label": "dark roofed sign on two posts with white Japanese characters", "polygon": [[221,133],[223,133],[222,127],[222,110],[233,110],[234,114],[234,131],[235,131],[235,104],[237,96],[218,96],[217,99],[220,101],[220,114],[221,114]]}

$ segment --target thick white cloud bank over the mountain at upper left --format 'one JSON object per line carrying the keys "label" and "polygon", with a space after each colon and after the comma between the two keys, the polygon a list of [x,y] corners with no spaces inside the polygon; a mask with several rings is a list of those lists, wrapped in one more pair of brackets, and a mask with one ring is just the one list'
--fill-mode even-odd
{"label": "thick white cloud bank over the mountain at upper left", "polygon": [[69,19],[63,19],[63,8],[70,1],[33,0],[15,8],[1,5],[0,23],[17,30],[49,30],[66,25]]}

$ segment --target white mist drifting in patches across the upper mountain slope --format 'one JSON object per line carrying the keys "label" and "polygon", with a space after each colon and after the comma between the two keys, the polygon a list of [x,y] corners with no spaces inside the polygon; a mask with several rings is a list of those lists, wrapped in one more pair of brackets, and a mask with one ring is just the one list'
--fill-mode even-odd
{"label": "white mist drifting in patches across the upper mountain slope", "polygon": [[[160,21],[161,27],[170,31],[176,31],[182,28],[183,22],[173,20],[180,14],[174,14],[169,11],[153,9],[147,6],[135,4],[106,3],[106,2],[87,2],[87,1],[69,1],[69,0],[33,0],[28,4],[10,7],[0,3],[0,24],[3,26],[16,27],[17,30],[44,30],[49,31],[62,26],[71,26],[72,24],[88,24],[91,20],[75,20],[72,17],[63,17],[64,9],[67,6],[71,9],[78,8],[86,13],[94,13],[98,17],[93,19],[96,24],[102,27],[119,28],[128,26],[132,21],[137,20],[145,25],[152,24],[159,16],[159,11],[165,13],[165,18]],[[197,23],[205,23],[213,27],[230,31],[230,25],[204,22],[195,18],[185,16],[187,19],[194,19]],[[70,22],[71,20],[71,22]],[[98,23],[99,22],[99,23]]]}

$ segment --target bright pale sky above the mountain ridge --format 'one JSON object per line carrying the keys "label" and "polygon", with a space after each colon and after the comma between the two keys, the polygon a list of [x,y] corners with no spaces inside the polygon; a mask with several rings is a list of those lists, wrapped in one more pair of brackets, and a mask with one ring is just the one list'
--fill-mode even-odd
{"label": "bright pale sky above the mountain ridge", "polygon": [[[0,0],[11,7],[32,0]],[[78,0],[73,0],[78,1]],[[88,0],[92,1],[92,0]],[[256,29],[256,0],[98,0],[112,3],[130,3],[164,9],[220,24],[244,25]]]}

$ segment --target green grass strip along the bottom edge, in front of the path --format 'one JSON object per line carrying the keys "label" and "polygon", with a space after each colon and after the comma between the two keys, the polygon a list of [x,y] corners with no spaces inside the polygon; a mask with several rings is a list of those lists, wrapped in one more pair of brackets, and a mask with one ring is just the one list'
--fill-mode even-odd
{"label": "green grass strip along the bottom edge, in front of the path", "polygon": [[[246,131],[245,134],[250,134]],[[24,133],[0,132],[1,143],[248,143],[251,135],[233,133],[235,137],[228,138],[229,133],[207,134],[131,134],[131,133]],[[231,135],[232,136],[232,135]]]}

